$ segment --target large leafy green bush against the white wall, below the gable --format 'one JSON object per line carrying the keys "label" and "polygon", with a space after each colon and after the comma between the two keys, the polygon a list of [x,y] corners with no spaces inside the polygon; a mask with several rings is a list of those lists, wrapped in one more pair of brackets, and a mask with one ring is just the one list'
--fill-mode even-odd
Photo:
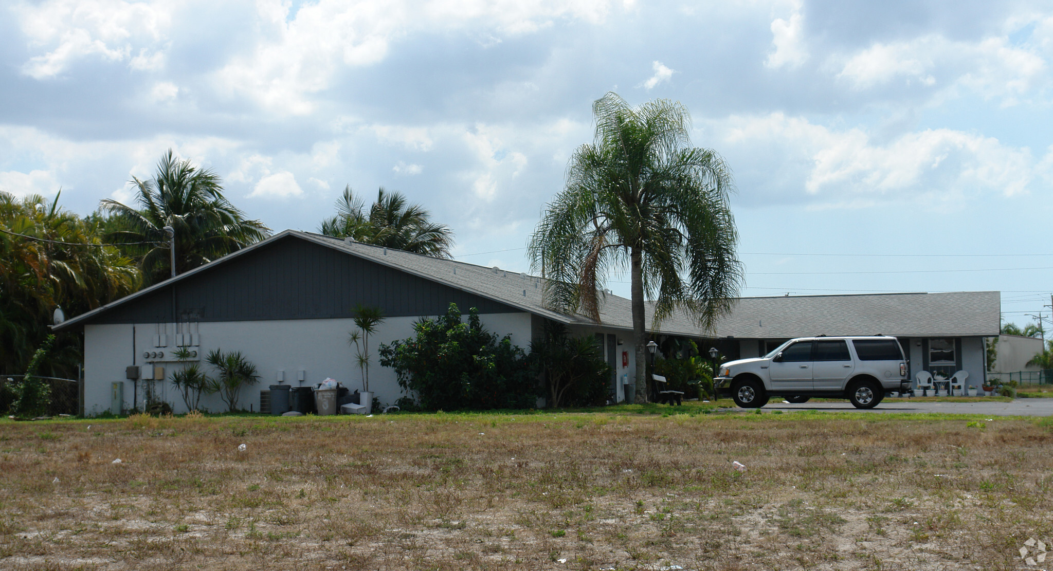
{"label": "large leafy green bush against the white wall, below the gable", "polygon": [[[413,326],[415,337],[380,346],[380,365],[398,374],[423,410],[523,409],[537,399],[537,377],[522,349],[482,329],[475,308],[468,323],[456,303]],[[400,400],[400,402],[404,402]]]}

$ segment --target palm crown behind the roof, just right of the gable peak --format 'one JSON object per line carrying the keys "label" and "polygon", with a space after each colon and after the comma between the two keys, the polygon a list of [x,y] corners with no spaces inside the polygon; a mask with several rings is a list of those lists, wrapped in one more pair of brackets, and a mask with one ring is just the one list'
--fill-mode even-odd
{"label": "palm crown behind the roof, just right of the gable peak", "polygon": [[431,213],[420,204],[410,204],[400,193],[389,193],[381,186],[366,213],[365,203],[349,184],[336,209],[336,216],[322,221],[320,233],[433,258],[451,257],[454,233],[450,227],[432,222]]}

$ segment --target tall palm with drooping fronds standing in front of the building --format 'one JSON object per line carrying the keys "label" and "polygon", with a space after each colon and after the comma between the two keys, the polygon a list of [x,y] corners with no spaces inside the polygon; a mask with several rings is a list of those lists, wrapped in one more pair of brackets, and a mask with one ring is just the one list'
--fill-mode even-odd
{"label": "tall palm with drooping fronds standing in front of the building", "polygon": [[679,310],[711,329],[738,296],[742,267],[728,204],[734,182],[716,152],[691,146],[680,103],[634,109],[609,93],[593,113],[595,141],[574,153],[567,185],[549,203],[529,251],[547,278],[545,303],[596,321],[608,272],[629,269],[639,382],[644,299],[654,300],[655,326]]}

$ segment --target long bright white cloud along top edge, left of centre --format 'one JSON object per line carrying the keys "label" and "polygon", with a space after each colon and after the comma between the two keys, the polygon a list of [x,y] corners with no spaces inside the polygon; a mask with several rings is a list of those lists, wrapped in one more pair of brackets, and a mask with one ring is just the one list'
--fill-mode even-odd
{"label": "long bright white cloud along top edge, left of centre", "polygon": [[214,74],[233,95],[245,95],[272,111],[306,115],[315,110],[312,94],[330,86],[341,70],[382,61],[392,42],[415,33],[441,29],[490,39],[521,36],[550,27],[561,19],[601,21],[608,0],[319,0],[292,14],[281,0],[258,0],[263,33],[244,56]]}

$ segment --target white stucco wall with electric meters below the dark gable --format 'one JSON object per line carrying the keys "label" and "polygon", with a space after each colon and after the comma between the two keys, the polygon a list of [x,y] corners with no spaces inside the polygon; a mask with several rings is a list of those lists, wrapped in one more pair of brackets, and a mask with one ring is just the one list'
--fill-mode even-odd
{"label": "white stucco wall with electric meters below the dark gable", "polygon": [[[511,334],[512,342],[526,350],[531,339],[531,315],[529,313],[480,315],[483,327],[498,336]],[[398,387],[395,371],[380,366],[377,352],[380,343],[413,336],[413,323],[418,317],[389,317],[370,336],[370,390],[382,403],[393,403],[404,396]],[[466,319],[466,316],[465,316]],[[125,409],[133,408],[134,386],[125,379],[125,367],[146,365],[144,351],[164,351],[166,359],[157,365],[165,368],[166,379],[173,368],[182,367],[171,357],[176,349],[171,336],[174,324],[163,326],[168,338],[168,347],[155,348],[154,335],[157,323],[85,326],[84,327],[84,412],[86,415],[100,414],[110,409],[111,390],[114,381],[124,381]],[[297,371],[305,372],[303,386],[313,386],[325,377],[332,377],[350,390],[362,389],[362,375],[355,363],[355,350],[347,344],[349,332],[355,329],[349,319],[299,319],[274,321],[222,321],[202,322],[198,326],[201,344],[199,355],[204,356],[213,349],[240,351],[256,365],[260,382],[242,389],[238,405],[259,410],[259,392],[277,383],[278,370],[284,370],[285,383],[300,386]],[[133,328],[135,329],[135,353],[133,353]],[[212,373],[203,363],[203,369]],[[184,413],[186,407],[178,391],[165,380],[157,383],[159,397],[172,405],[176,413]],[[139,388],[139,403],[142,403],[142,381]],[[204,396],[201,407],[211,411],[224,411],[225,405],[218,395]]]}

